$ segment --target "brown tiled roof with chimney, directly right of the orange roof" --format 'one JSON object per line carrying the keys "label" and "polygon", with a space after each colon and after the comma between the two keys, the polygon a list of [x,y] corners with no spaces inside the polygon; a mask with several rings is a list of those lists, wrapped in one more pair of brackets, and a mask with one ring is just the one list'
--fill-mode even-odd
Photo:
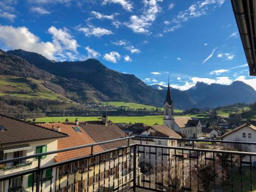
{"label": "brown tiled roof with chimney, directly right of the orange roof", "polygon": [[[119,139],[126,136],[125,133],[112,121],[107,125],[101,121],[87,121],[81,122],[80,126],[83,127],[84,131],[86,131],[97,142]],[[127,140],[122,140],[103,144],[102,147],[105,150],[110,150],[111,148],[127,145],[127,143]]]}

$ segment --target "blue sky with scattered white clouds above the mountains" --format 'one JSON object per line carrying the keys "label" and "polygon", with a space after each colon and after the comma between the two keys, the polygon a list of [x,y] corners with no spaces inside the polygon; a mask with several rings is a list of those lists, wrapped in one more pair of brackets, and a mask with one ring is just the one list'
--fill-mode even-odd
{"label": "blue sky with scattered white clouds above the mountains", "polygon": [[230,1],[0,1],[0,48],[53,60],[93,57],[147,84],[186,90],[248,75]]}

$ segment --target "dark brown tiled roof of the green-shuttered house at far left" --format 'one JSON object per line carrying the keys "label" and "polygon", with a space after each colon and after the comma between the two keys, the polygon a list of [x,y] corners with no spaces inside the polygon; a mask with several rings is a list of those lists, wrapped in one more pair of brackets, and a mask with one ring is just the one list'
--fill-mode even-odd
{"label": "dark brown tiled roof of the green-shuttered house at far left", "polygon": [[0,145],[67,137],[65,133],[0,114]]}

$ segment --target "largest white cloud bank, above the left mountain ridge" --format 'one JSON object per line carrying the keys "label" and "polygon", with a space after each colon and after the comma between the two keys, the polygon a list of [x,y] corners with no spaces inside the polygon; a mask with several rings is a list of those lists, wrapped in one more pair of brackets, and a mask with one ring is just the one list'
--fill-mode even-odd
{"label": "largest white cloud bank, above the left mountain ridge", "polygon": [[52,26],[48,32],[52,35],[52,42],[41,41],[26,27],[0,26],[0,40],[10,49],[36,52],[49,59],[76,59],[79,45],[67,29],[56,29]]}

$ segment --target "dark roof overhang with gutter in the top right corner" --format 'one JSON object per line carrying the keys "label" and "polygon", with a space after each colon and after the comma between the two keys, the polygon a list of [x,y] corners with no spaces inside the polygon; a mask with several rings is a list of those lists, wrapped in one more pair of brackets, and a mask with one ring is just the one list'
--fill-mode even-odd
{"label": "dark roof overhang with gutter in the top right corner", "polygon": [[231,0],[250,75],[256,76],[256,1]]}

